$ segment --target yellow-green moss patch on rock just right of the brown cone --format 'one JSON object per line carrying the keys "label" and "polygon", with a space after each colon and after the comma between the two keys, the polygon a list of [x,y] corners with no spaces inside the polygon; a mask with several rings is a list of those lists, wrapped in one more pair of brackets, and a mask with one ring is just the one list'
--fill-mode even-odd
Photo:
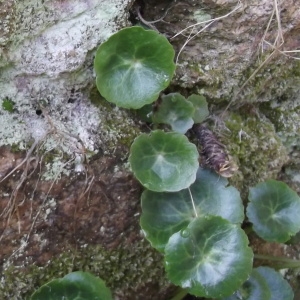
{"label": "yellow-green moss patch on rock just right of the brown cone", "polygon": [[229,113],[226,116],[226,146],[239,166],[232,182],[247,192],[250,186],[277,178],[288,156],[274,125],[263,115]]}

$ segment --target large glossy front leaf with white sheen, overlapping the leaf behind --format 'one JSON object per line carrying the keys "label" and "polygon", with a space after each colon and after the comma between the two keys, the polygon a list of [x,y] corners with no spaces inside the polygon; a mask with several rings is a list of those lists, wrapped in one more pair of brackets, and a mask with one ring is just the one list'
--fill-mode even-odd
{"label": "large glossy front leaf with white sheen, overlapping the leaf behind", "polygon": [[231,295],[248,278],[252,260],[244,231],[213,216],[195,219],[165,248],[168,278],[201,297]]}

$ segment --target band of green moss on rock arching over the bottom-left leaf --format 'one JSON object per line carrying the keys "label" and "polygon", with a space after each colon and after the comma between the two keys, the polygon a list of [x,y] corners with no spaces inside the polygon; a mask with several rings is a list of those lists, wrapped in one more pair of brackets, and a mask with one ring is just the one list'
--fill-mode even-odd
{"label": "band of green moss on rock arching over the bottom-left leaf", "polygon": [[148,242],[140,240],[115,250],[82,245],[77,250],[65,251],[59,257],[51,258],[43,266],[26,262],[24,266],[11,265],[3,271],[0,296],[3,299],[26,299],[42,284],[75,270],[101,277],[119,299],[138,299],[133,295],[148,284],[156,286],[157,294],[169,285],[164,276],[162,255]]}

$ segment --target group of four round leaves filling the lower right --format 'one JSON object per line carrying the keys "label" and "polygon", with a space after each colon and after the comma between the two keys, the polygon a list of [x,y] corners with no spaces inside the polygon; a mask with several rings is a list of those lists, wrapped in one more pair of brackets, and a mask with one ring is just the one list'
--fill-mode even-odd
{"label": "group of four round leaves filling the lower right", "polygon": [[[300,230],[300,198],[284,183],[260,183],[250,189],[249,199],[248,218],[265,240],[283,242]],[[164,253],[173,283],[202,297],[292,300],[280,274],[272,271],[283,282],[278,291],[279,279],[271,271],[274,276],[267,279],[252,271],[253,253],[240,228],[243,219],[239,192],[207,169],[198,170],[188,189],[142,194],[141,227],[152,246]],[[256,297],[261,290],[268,290],[269,298]]]}

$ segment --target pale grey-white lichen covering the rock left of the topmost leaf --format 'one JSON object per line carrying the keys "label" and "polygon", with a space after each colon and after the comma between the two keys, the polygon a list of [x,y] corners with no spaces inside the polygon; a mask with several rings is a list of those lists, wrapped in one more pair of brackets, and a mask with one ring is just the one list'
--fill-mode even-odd
{"label": "pale grey-white lichen covering the rock left of the topmost leaf", "polygon": [[[4,93],[0,101],[14,102],[13,109],[0,107],[1,145],[19,145],[22,150],[38,142],[39,147],[43,145],[40,153],[57,149],[69,157],[78,154],[78,144],[79,152],[100,148],[113,152],[118,142],[115,135],[122,134],[113,128],[102,135],[108,131],[108,112],[90,103],[87,90],[95,80],[93,51],[126,24],[129,3],[30,0],[1,4],[7,17],[13,16],[11,28],[15,28],[3,40],[8,56],[0,62]],[[126,123],[125,114],[122,121],[120,114],[114,116]]]}

